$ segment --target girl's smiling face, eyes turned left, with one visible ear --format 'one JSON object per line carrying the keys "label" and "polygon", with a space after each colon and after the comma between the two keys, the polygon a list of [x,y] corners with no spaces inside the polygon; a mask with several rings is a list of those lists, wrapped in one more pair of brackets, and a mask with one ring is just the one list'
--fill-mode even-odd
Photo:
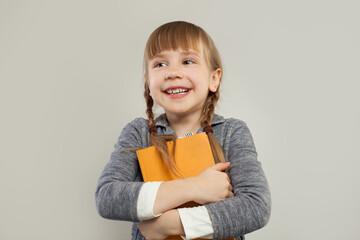
{"label": "girl's smiling face, eyes turned left, with one visible ear", "polygon": [[221,69],[210,71],[204,51],[178,49],[157,54],[148,62],[150,96],[166,114],[199,117],[208,96],[220,82]]}

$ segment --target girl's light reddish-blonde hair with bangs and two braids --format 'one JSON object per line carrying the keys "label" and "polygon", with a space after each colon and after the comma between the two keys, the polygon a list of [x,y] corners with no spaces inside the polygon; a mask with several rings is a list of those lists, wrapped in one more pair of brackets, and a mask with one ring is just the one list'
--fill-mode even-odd
{"label": "girl's light reddish-blonde hair with bangs and two braids", "polygon": [[[175,174],[178,171],[175,164],[174,152],[171,154],[169,153],[166,142],[170,140],[175,140],[176,137],[170,134],[162,135],[156,133],[154,113],[152,111],[154,101],[150,96],[150,90],[147,83],[148,62],[152,60],[156,54],[166,50],[177,50],[181,48],[185,50],[193,49],[199,51],[201,43],[204,49],[204,56],[209,70],[215,71],[218,68],[222,69],[220,55],[215,47],[214,42],[202,28],[192,23],[176,21],[169,22],[158,27],[150,35],[145,47],[144,72],[146,79],[144,97],[147,107],[146,115],[149,120],[150,144],[158,149],[171,171]],[[211,127],[209,127],[211,126],[211,121],[215,111],[215,105],[219,97],[219,87],[217,88],[216,92],[209,91],[200,118],[201,125],[204,127],[204,129],[207,129],[206,132],[216,163],[225,162],[223,151],[218,142],[216,141],[212,133]]]}

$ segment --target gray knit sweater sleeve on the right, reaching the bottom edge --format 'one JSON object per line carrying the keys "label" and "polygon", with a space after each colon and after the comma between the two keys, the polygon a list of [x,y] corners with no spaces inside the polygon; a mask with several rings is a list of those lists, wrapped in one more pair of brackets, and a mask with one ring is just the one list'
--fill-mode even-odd
{"label": "gray knit sweater sleeve on the right, reaching the bottom edge", "polygon": [[238,237],[265,226],[270,218],[271,198],[268,183],[251,133],[237,121],[228,141],[227,160],[234,196],[207,208],[214,228],[214,238]]}

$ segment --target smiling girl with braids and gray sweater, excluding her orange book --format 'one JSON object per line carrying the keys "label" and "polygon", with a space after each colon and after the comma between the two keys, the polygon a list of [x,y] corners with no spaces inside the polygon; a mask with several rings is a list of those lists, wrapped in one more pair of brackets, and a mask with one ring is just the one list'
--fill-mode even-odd
{"label": "smiling girl with braids and gray sweater, excluding her orange book", "polygon": [[[265,226],[270,192],[250,131],[240,120],[214,114],[222,66],[208,34],[187,22],[160,26],[146,44],[144,70],[148,119],[127,124],[115,144],[96,190],[99,214],[134,222],[132,239],[243,239]],[[165,111],[156,119],[154,102]],[[143,182],[129,149],[155,145],[174,169],[166,141],[203,131],[221,163],[192,178]],[[203,206],[176,209],[188,201]]]}

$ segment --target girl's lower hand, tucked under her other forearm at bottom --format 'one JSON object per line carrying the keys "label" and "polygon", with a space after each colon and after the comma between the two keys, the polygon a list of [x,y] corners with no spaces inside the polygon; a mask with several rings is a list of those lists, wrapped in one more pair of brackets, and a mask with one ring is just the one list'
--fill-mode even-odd
{"label": "girl's lower hand, tucked under her other forearm at bottom", "polygon": [[137,225],[146,240],[162,240],[172,235],[185,235],[176,209],[169,210],[157,218],[139,222]]}

